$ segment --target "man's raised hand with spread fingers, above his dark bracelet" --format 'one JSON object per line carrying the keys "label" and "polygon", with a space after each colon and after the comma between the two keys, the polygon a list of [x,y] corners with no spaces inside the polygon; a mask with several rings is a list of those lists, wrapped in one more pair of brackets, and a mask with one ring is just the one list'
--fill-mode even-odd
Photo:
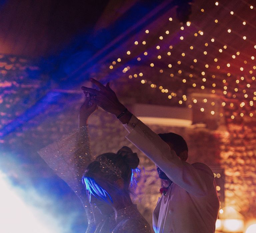
{"label": "man's raised hand with spread fingers, above his dark bracelet", "polygon": [[98,106],[115,116],[119,116],[125,111],[125,106],[119,102],[115,92],[110,88],[109,83],[104,86],[95,79],[90,79],[90,81],[98,88],[98,90],[88,87],[81,87],[81,89],[90,93],[91,99],[93,99]]}

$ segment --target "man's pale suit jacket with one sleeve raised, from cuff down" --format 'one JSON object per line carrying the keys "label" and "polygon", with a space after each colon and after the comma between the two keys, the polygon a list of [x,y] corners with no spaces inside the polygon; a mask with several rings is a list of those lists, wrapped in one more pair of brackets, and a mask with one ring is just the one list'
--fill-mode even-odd
{"label": "man's pale suit jacket with one sleeve raised, from cuff down", "polygon": [[[155,132],[132,116],[126,138],[173,181],[153,212],[157,233],[214,233],[219,198],[211,169],[203,163],[181,161]],[[157,190],[156,190],[157,192]]]}

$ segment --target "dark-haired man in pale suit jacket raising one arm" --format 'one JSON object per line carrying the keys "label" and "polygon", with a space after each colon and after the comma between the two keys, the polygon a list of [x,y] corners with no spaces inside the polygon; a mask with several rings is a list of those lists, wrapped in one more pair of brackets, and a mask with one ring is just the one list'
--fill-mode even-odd
{"label": "dark-haired man in pale suit jacket raising one arm", "polygon": [[214,233],[219,199],[211,169],[203,163],[189,164],[185,140],[175,133],[157,135],[132,115],[106,86],[90,79],[98,88],[82,87],[91,103],[114,114],[127,129],[126,138],[157,166],[164,181],[162,196],[153,212],[157,233]]}

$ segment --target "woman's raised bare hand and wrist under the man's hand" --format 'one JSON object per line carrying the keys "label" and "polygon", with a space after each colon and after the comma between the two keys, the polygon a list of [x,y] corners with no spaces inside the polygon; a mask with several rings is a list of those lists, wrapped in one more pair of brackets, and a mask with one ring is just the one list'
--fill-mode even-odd
{"label": "woman's raised bare hand and wrist under the man's hand", "polygon": [[79,111],[79,127],[87,125],[88,117],[97,109],[97,105],[93,99],[90,99],[90,94],[84,92],[85,101]]}

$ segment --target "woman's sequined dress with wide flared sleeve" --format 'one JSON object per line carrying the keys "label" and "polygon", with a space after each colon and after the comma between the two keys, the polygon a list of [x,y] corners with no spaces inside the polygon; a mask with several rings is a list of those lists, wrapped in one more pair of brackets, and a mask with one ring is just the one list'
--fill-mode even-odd
{"label": "woman's sequined dress with wide flared sleeve", "polygon": [[[115,218],[115,213],[102,215],[98,211],[92,212],[85,188],[81,183],[82,175],[92,161],[87,126],[80,127],[61,140],[39,150],[38,153],[80,198],[88,220],[86,233],[151,232],[148,222],[134,204],[117,210],[117,218]],[[97,219],[96,224],[94,219]]]}

